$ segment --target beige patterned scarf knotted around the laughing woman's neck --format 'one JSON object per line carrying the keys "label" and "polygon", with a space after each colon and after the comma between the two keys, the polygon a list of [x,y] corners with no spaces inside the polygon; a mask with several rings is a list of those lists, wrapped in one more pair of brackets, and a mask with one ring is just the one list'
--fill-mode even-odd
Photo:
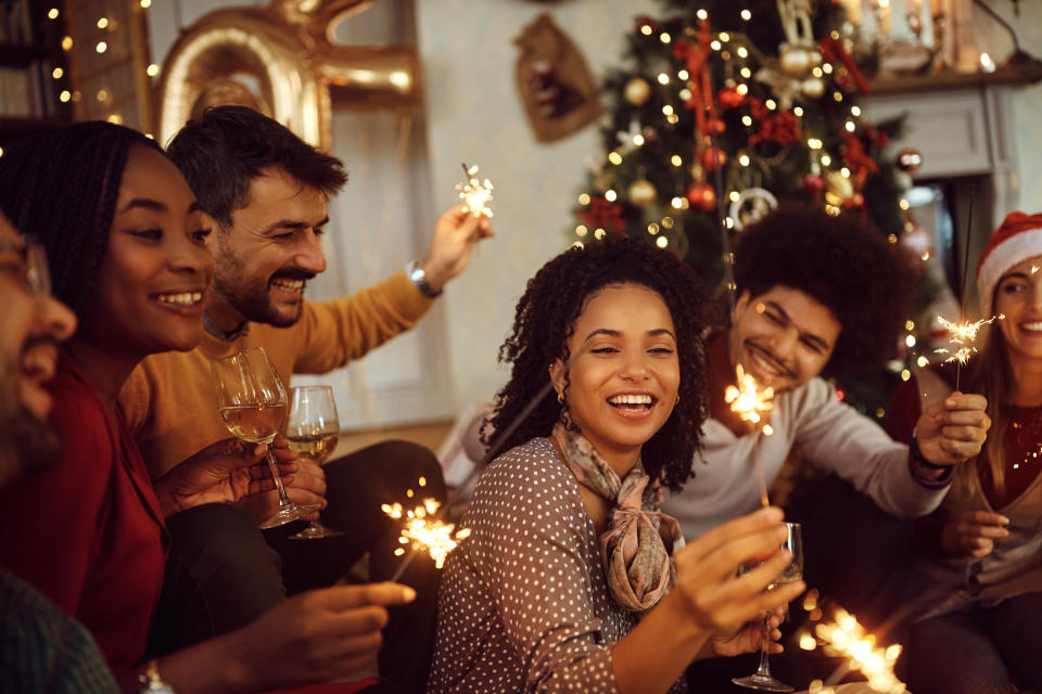
{"label": "beige patterned scarf knotted around the laughing woman's neck", "polygon": [[673,516],[641,506],[648,474],[637,459],[625,479],[581,434],[558,424],[550,435],[579,484],[608,500],[611,523],[600,536],[608,589],[627,612],[650,609],[676,583],[673,552],[684,547]]}

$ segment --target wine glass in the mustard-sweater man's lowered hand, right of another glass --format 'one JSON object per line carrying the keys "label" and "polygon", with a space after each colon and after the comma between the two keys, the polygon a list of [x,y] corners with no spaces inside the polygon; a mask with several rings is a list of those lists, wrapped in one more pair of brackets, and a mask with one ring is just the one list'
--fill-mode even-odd
{"label": "wine glass in the mustard-sweater man's lowered hand, right of another glass", "polygon": [[[290,448],[301,458],[321,465],[336,448],[340,436],[340,420],[336,417],[336,401],[329,386],[298,386],[290,388],[290,419],[285,424],[284,436]],[[291,540],[313,540],[315,538],[334,538],[343,535],[341,530],[327,528],[318,518],[300,532],[291,535]]]}

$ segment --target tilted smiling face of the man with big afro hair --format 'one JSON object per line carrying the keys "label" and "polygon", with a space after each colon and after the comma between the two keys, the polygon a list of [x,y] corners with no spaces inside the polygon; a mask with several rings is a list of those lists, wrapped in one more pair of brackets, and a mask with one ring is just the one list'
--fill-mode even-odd
{"label": "tilted smiling face of the man with big afro hair", "polygon": [[777,285],[752,298],[742,292],[732,314],[728,335],[732,368],[775,390],[799,387],[828,363],[839,321],[808,294]]}

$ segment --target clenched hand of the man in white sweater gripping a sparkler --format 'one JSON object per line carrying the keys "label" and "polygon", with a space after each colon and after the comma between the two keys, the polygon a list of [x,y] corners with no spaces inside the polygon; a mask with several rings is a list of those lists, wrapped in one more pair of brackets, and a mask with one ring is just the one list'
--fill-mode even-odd
{"label": "clenched hand of the man in white sweater gripping a sparkler", "polygon": [[991,417],[981,395],[956,390],[929,408],[915,425],[919,452],[933,465],[956,465],[980,453]]}

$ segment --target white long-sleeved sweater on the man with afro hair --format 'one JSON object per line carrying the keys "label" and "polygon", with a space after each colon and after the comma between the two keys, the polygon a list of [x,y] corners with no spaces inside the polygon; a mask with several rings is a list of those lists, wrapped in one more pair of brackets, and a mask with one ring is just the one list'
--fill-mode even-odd
{"label": "white long-sleeved sweater on the man with afro hair", "polygon": [[917,483],[908,471],[907,446],[894,442],[875,422],[840,402],[822,378],[775,396],[771,426],[771,436],[735,436],[720,421],[706,421],[695,477],[683,491],[668,496],[662,509],[681,522],[685,538],[755,511],[760,484],[753,453],[770,486],[793,446],[816,467],[849,480],[897,516],[930,513],[948,491]]}

